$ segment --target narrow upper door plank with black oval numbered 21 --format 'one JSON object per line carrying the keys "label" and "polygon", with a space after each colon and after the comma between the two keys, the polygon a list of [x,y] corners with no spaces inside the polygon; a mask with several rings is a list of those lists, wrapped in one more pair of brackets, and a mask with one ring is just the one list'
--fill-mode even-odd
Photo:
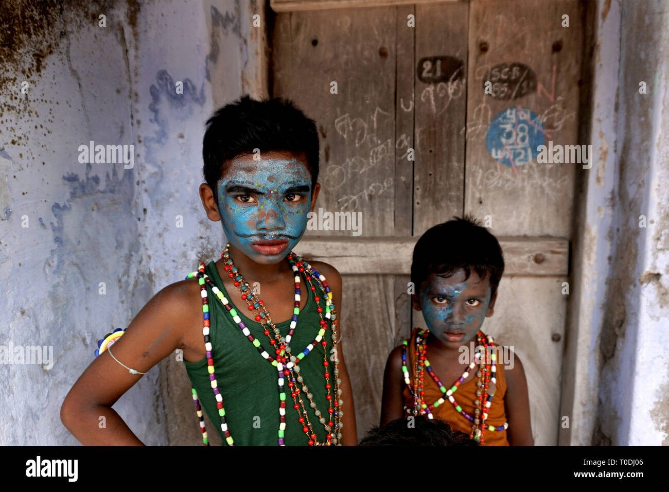
{"label": "narrow upper door plank with black oval numbered 21", "polygon": [[416,5],[413,235],[461,215],[468,3]]}

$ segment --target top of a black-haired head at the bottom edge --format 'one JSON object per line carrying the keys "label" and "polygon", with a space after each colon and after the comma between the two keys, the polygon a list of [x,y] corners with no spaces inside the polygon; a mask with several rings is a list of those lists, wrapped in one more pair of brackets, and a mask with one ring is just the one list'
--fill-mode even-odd
{"label": "top of a black-haired head at the bottom edge", "polygon": [[365,434],[359,446],[479,446],[469,434],[453,430],[443,420],[432,420],[422,415],[413,418],[409,427],[407,418],[398,418],[379,428],[374,426]]}

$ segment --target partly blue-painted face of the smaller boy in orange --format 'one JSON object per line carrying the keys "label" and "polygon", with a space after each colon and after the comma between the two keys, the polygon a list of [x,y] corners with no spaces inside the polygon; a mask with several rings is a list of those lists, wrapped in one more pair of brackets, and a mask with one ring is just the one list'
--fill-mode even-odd
{"label": "partly blue-painted face of the smaller boy in orange", "polygon": [[430,273],[418,295],[429,331],[449,348],[468,343],[483,325],[488,311],[492,315],[488,279],[480,280],[474,271],[467,280],[464,278],[462,268],[446,278]]}

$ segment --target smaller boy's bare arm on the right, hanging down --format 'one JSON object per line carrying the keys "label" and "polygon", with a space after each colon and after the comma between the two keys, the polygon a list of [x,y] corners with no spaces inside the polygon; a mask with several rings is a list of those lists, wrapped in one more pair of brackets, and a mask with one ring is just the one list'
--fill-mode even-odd
{"label": "smaller boy's bare arm on the right, hanging down", "polygon": [[504,370],[506,394],[504,410],[506,412],[506,439],[511,446],[534,446],[530,420],[530,400],[527,393],[527,380],[520,357],[516,353],[512,369]]}

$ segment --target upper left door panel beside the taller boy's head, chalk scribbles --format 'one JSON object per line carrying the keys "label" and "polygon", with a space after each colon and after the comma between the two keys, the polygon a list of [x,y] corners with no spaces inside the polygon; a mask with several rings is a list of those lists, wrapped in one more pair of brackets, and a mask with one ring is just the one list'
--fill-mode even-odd
{"label": "upper left door panel beside the taller boy's head, chalk scribbles", "polygon": [[372,236],[395,234],[396,17],[383,8],[276,16],[273,95],[291,98],[316,120],[316,207],[373,218],[364,232]]}

